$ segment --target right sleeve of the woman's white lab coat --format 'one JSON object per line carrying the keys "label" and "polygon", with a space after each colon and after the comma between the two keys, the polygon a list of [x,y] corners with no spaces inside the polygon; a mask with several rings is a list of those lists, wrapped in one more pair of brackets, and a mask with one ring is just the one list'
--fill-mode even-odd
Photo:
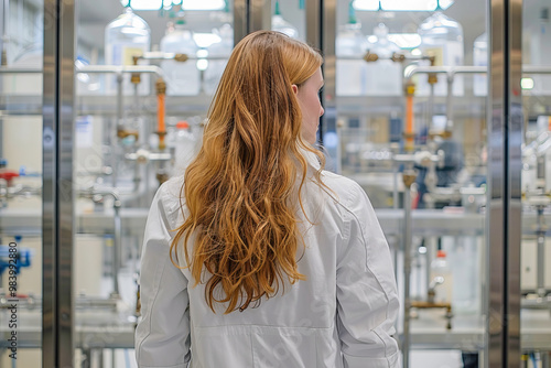
{"label": "right sleeve of the woman's white lab coat", "polygon": [[390,250],[365,194],[355,186],[347,212],[348,241],[337,262],[337,329],[344,366],[400,367],[392,335],[399,300]]}

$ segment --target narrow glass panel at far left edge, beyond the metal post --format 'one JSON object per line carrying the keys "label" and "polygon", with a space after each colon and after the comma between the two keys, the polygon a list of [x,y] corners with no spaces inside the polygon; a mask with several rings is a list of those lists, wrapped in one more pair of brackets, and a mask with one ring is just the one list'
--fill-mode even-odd
{"label": "narrow glass panel at far left edge, beyond the metal post", "polygon": [[42,365],[43,9],[41,0],[0,4],[2,367]]}

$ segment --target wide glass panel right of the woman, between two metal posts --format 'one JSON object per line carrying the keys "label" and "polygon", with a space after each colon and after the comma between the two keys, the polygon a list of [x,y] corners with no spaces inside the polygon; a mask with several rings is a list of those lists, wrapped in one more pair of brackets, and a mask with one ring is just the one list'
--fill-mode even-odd
{"label": "wide glass panel right of the woman, between two metal posts", "polygon": [[474,0],[437,12],[350,3],[337,1],[337,128],[324,142],[369,195],[395,251],[402,305],[411,303],[398,323],[406,366],[478,367],[487,79],[469,66],[487,65],[487,13]]}

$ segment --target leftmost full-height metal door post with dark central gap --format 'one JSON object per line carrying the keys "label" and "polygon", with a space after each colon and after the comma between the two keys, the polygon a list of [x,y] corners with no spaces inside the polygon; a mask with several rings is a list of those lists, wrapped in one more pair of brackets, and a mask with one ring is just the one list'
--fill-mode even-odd
{"label": "leftmost full-height metal door post with dark central gap", "polygon": [[75,4],[44,1],[42,366],[74,365]]}

